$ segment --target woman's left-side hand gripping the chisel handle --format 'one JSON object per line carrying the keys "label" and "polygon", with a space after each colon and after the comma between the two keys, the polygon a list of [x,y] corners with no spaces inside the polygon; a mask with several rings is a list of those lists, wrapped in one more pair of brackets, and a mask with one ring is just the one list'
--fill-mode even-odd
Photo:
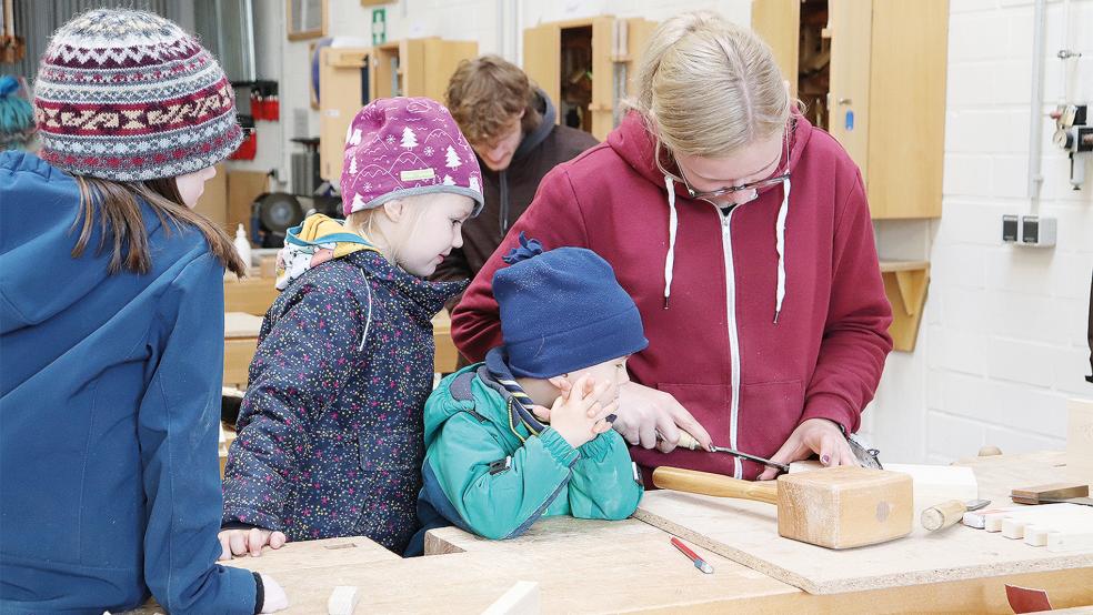
{"label": "woman's left-side hand gripping the chisel handle", "polygon": [[[654,446],[670,453],[680,441],[680,430],[688,432],[709,450],[710,434],[675,397],[663,391],[628,382],[619,387],[619,411],[614,429],[623,440],[645,448]],[[661,440],[656,434],[660,432]]]}

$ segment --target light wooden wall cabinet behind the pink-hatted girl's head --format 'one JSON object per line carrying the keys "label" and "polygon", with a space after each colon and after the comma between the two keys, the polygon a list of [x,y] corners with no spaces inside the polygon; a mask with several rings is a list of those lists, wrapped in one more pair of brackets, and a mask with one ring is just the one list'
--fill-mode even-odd
{"label": "light wooden wall cabinet behind the pink-hatted girl's head", "polygon": [[320,51],[319,175],[341,178],[345,131],[369,101],[401,95],[443,102],[455,67],[475,56],[478,42],[437,37]]}

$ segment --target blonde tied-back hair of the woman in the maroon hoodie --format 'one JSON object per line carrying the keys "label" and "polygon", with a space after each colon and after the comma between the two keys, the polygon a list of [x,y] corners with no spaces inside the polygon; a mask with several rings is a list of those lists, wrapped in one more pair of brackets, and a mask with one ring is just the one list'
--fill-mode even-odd
{"label": "blonde tied-back hair of the woman in the maroon hoodie", "polygon": [[671,151],[732,155],[779,133],[790,97],[770,47],[711,11],[662,23],[634,75],[626,102]]}

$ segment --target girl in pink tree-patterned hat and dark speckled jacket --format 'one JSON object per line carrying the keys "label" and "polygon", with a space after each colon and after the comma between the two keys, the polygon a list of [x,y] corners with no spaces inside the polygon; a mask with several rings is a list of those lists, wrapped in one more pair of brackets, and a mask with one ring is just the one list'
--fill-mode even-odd
{"label": "girl in pink tree-patterned hat and dark speckled jacket", "polygon": [[353,119],[344,224],[292,229],[224,472],[234,554],[364,535],[402,553],[418,528],[432,317],[465,282],[429,282],[482,206],[474,152],[448,110],[377,100]]}

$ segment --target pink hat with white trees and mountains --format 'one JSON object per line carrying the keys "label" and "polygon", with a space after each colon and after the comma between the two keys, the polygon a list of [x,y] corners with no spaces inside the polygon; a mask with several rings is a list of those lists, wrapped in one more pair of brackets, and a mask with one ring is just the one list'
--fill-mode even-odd
{"label": "pink hat with white trees and mountains", "polygon": [[482,171],[448,109],[427,98],[379,99],[361,109],[345,133],[342,165],[345,215],[404,196],[450,192],[482,211]]}

